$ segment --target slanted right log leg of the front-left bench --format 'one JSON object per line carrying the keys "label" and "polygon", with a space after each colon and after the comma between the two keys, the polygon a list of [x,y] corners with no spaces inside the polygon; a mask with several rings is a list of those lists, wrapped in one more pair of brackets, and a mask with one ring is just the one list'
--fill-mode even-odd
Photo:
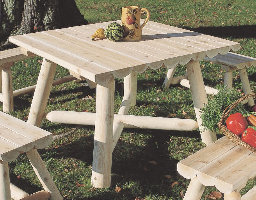
{"label": "slanted right log leg of the front-left bench", "polygon": [[26,153],[44,190],[51,193],[51,200],[63,200],[37,150],[33,149]]}

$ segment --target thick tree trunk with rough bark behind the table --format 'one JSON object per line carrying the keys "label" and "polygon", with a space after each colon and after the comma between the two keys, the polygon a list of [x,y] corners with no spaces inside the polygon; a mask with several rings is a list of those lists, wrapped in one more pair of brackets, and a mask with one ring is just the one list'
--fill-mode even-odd
{"label": "thick tree trunk with rough bark behind the table", "polygon": [[0,50],[11,35],[88,24],[75,0],[0,0]]}

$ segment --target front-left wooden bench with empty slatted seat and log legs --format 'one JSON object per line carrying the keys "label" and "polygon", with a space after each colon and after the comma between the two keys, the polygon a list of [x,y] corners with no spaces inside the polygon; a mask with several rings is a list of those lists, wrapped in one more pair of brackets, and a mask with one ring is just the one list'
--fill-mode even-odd
{"label": "front-left wooden bench with empty slatted seat and log legs", "polygon": [[[60,193],[46,169],[37,150],[52,141],[52,134],[30,125],[25,121],[0,112],[0,199],[1,200],[62,200]],[[19,154],[27,153],[28,159],[36,172],[45,191],[28,195],[25,191],[10,184],[8,162]]]}

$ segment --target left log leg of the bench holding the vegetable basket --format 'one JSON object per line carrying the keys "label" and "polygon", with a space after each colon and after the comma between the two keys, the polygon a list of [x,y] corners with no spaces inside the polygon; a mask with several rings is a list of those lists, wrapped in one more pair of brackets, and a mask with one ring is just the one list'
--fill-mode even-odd
{"label": "left log leg of the bench holding the vegetable basket", "polygon": [[205,186],[198,180],[197,176],[191,179],[183,200],[200,200]]}

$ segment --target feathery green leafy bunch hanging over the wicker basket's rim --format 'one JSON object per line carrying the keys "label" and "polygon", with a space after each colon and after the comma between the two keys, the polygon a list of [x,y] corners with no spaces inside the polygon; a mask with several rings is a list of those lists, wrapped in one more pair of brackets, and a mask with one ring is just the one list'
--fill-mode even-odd
{"label": "feathery green leafy bunch hanging over the wicker basket's rim", "polygon": [[[201,119],[203,130],[212,130],[219,132],[218,123],[220,121],[222,112],[228,107],[228,105],[233,104],[238,98],[241,98],[242,94],[236,88],[220,88],[216,95],[208,96],[208,104],[204,104],[201,109]],[[238,104],[230,114],[235,112],[247,112],[245,105]],[[202,130],[201,130],[202,131]]]}

